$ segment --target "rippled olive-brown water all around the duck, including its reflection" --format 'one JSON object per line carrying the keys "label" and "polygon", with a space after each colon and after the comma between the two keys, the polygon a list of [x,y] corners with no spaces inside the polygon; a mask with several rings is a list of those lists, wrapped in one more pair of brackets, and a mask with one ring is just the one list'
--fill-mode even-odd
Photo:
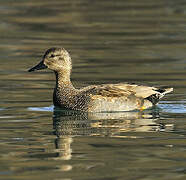
{"label": "rippled olive-brown water all around the duck, including its reflection", "polygon": [[[185,1],[0,2],[0,179],[186,178]],[[52,46],[69,50],[76,87],[174,92],[145,112],[60,111],[53,73],[27,72]]]}

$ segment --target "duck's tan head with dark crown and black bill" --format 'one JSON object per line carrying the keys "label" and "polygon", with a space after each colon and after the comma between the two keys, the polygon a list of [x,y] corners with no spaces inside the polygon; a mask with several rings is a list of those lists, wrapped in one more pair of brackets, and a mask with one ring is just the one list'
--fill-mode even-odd
{"label": "duck's tan head with dark crown and black bill", "polygon": [[46,68],[55,72],[70,72],[72,63],[69,53],[64,48],[50,48],[45,52],[41,62],[28,71],[31,72]]}

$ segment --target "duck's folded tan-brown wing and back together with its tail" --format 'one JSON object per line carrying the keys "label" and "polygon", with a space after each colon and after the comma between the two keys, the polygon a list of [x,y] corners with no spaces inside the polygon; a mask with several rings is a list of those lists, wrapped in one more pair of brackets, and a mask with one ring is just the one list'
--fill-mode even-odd
{"label": "duck's folded tan-brown wing and back together with its tail", "polygon": [[105,97],[126,97],[135,96],[136,98],[147,99],[156,104],[165,94],[173,91],[173,88],[162,87],[150,87],[137,84],[103,84],[98,86],[89,86],[84,89],[91,93],[91,98],[105,98]]}

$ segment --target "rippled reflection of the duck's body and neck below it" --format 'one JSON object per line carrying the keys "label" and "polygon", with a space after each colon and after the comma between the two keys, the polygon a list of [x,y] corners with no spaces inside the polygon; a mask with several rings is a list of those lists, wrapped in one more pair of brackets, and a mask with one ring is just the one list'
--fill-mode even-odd
{"label": "rippled reflection of the duck's body and neck below it", "polygon": [[[106,136],[136,138],[130,132],[171,131],[172,124],[158,124],[159,113],[122,112],[122,113],[88,113],[80,111],[54,110],[53,127],[57,136],[55,141],[57,159],[71,159],[71,143],[74,136]],[[123,134],[127,132],[127,134]]]}

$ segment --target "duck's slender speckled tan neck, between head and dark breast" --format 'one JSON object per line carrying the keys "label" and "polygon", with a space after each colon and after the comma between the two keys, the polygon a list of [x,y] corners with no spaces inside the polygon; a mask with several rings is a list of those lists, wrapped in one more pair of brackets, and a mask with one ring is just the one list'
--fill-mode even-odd
{"label": "duck's slender speckled tan neck, between head and dark breast", "polygon": [[58,88],[73,88],[74,86],[70,80],[70,71],[59,71],[55,72],[56,75],[56,89]]}

